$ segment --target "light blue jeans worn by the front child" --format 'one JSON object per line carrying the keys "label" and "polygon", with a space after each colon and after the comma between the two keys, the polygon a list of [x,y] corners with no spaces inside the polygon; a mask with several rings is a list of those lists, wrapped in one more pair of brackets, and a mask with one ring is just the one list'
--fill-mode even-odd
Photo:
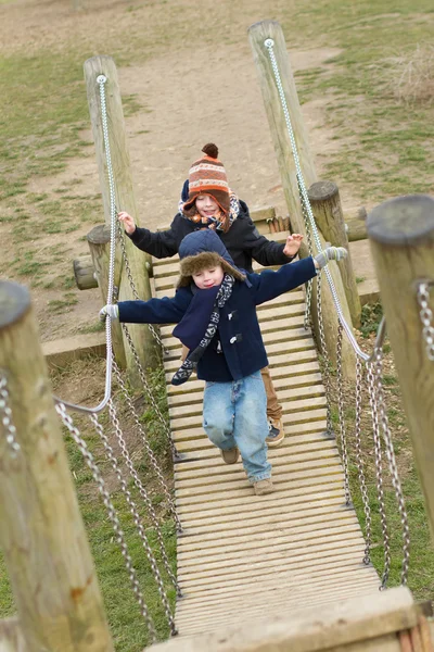
{"label": "light blue jeans worn by the front child", "polygon": [[251,482],[271,477],[265,441],[267,397],[260,372],[231,383],[206,383],[203,427],[219,449],[239,448]]}

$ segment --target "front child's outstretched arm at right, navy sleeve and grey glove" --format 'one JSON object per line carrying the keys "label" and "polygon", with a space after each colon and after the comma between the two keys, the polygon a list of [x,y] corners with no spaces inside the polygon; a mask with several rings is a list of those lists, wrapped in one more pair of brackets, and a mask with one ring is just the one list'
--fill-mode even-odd
{"label": "front child's outstretched arm at right, navy sleeve and grey glove", "polygon": [[296,263],[283,265],[277,272],[265,269],[261,274],[248,275],[256,289],[256,305],[276,299],[283,292],[293,290],[317,275],[331,260],[340,261],[347,255],[343,247],[328,247],[314,258],[305,258]]}

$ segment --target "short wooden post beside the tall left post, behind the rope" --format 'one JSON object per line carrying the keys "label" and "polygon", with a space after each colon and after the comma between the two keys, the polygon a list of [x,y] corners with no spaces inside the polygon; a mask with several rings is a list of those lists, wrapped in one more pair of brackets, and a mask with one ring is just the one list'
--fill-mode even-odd
{"label": "short wooden post beside the tall left post, behind the rope", "polygon": [[[98,285],[101,290],[101,305],[105,305],[107,302],[107,290],[108,290],[108,264],[110,264],[110,228],[105,224],[101,224],[92,228],[92,230],[86,236],[92,256],[93,267],[95,271]],[[119,258],[120,251],[117,249],[116,258]],[[119,291],[122,265],[119,261],[115,263],[115,277],[114,277],[114,292],[117,298]],[[112,344],[113,351],[117,364],[125,368],[127,366],[123,330],[119,322],[112,319]]]}

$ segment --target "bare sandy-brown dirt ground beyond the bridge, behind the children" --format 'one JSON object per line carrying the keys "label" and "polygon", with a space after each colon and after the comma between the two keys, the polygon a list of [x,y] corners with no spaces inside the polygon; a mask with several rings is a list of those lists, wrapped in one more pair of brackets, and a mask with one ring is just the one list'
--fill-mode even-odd
{"label": "bare sandy-brown dirt ground beyond the bridge, behind the children", "polygon": [[[102,4],[90,0],[86,3],[82,0],[84,9],[80,12],[74,12],[72,4],[66,0],[20,0],[12,4],[0,4],[2,53],[31,53],[42,46],[49,46],[55,52],[71,43],[73,34],[79,35],[82,42],[99,36],[101,42],[105,40],[107,48],[114,26],[117,34],[137,29],[138,15],[135,11],[126,11],[128,3]],[[197,11],[195,2],[178,0],[174,4],[182,10],[186,25],[194,24]],[[278,7],[279,2],[270,3],[271,16]],[[141,20],[149,21],[146,29],[152,32],[153,26],[156,30],[161,29],[162,16],[157,3],[140,8]],[[123,95],[135,95],[144,108],[126,120],[126,127],[140,220],[142,225],[150,228],[171,221],[188,168],[199,156],[202,146],[208,141],[218,145],[232,189],[251,209],[275,205],[278,214],[286,214],[246,37],[248,25],[261,17],[260,14],[267,15],[267,11],[259,2],[220,0],[216,10],[217,24],[225,21],[225,9],[230,14],[230,34],[238,34],[239,38],[229,38],[229,42],[219,43],[216,48],[202,35],[194,40],[194,48],[186,39],[167,51],[156,48],[156,53],[151,51],[140,65],[118,67]],[[95,21],[98,33],[94,32]],[[143,22],[141,27],[144,28]],[[333,49],[296,50],[291,52],[291,61],[294,70],[307,70],[321,66],[335,53]],[[333,134],[324,126],[327,103],[328,99],[323,98],[303,106],[319,176],[326,155],[337,147],[332,139]],[[86,129],[81,137],[91,141],[90,129]],[[61,174],[30,179],[28,190],[54,196],[62,185],[76,180],[79,181],[80,196],[98,195],[99,180],[92,148],[87,152],[87,156],[84,154],[82,158],[69,160]],[[357,204],[357,198],[352,197],[349,188],[342,187],[341,192],[344,205]],[[25,203],[25,198],[22,201]],[[65,260],[60,263],[65,273],[71,274],[75,258],[87,253],[87,243],[82,238],[92,226],[84,223],[68,237]],[[2,237],[8,242],[4,228]],[[41,247],[53,247],[64,243],[64,235],[52,234],[47,236]],[[98,290],[79,292],[72,288],[71,293],[77,303],[65,312],[51,315],[47,312],[47,304],[55,300],[59,291],[36,287],[31,292],[46,340],[65,337],[94,323],[101,304]]]}

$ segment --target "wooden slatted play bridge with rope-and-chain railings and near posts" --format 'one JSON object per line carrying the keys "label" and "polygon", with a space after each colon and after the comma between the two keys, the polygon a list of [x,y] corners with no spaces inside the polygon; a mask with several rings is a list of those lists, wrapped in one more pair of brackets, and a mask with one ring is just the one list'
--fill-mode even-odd
{"label": "wooden slatted play bridge with rope-and-chain railings and near posts", "polygon": [[[269,28],[269,25],[266,25]],[[276,25],[275,25],[276,29]],[[276,37],[276,32],[275,32]],[[275,40],[263,45],[276,78],[282,102],[285,126],[295,160],[295,187],[299,192],[309,247],[321,244],[321,234],[312,215],[301,158],[292,134],[285,105],[284,83],[275,54]],[[99,76],[101,96],[106,82]],[[106,110],[103,111],[104,148],[110,179],[110,264],[108,302],[113,302],[116,244],[116,190],[110,158]],[[299,213],[301,211],[298,211]],[[413,220],[409,220],[409,215]],[[426,510],[433,518],[433,480],[426,461],[434,451],[426,434],[432,431],[433,313],[430,290],[433,286],[432,247],[434,242],[433,200],[429,197],[398,198],[385,202],[370,215],[368,228],[379,271],[382,300],[388,318],[390,338],[401,377],[403,393],[412,431],[421,432],[423,446],[414,442],[414,454],[422,476]],[[138,297],[128,260],[128,247],[122,240],[125,276],[131,292]],[[284,239],[275,233],[275,239]],[[178,275],[177,259],[153,261],[154,296],[170,296]],[[399,283],[395,283],[394,271]],[[256,267],[256,271],[260,268]],[[323,273],[331,293],[318,283],[279,297],[258,308],[270,368],[279,400],[283,406],[285,439],[271,450],[273,482],[277,491],[256,497],[248,486],[241,464],[226,466],[206,439],[201,422],[202,384],[191,380],[173,387],[169,380],[179,366],[180,348],[171,337],[171,327],[158,334],[151,330],[164,350],[170,428],[167,428],[155,399],[151,396],[146,375],[137,349],[135,335],[124,326],[125,341],[130,348],[144,391],[166,430],[175,460],[175,501],[165,484],[158,461],[146,440],[140,415],[128,398],[128,390],[113,348],[112,324],[107,319],[107,378],[102,402],[94,409],[69,405],[88,413],[99,432],[122,490],[133,515],[156,590],[164,606],[174,638],[155,645],[162,652],[201,652],[203,650],[259,652],[291,649],[314,650],[432,650],[430,629],[420,616],[405,585],[409,564],[409,531],[406,507],[387,425],[382,390],[381,329],[371,354],[360,351],[341,303],[343,293],[336,286],[336,269]],[[322,276],[320,279],[322,279]],[[322,299],[321,299],[322,297]],[[327,298],[328,297],[328,298]],[[323,302],[332,301],[332,303]],[[307,324],[307,309],[315,302],[316,338],[324,359],[320,373],[312,331]],[[328,359],[329,328],[324,325],[327,306],[332,306],[336,350],[329,351],[336,361],[339,388],[339,431],[334,432],[330,414],[330,376]],[[68,429],[89,466],[124,556],[133,593],[155,641],[152,614],[143,598],[138,574],[132,565],[116,509],[86,441],[67,412],[68,404],[53,398],[47,379],[36,324],[28,292],[17,286],[0,284],[0,504],[2,548],[14,587],[18,616],[0,624],[0,650],[30,652],[49,650],[74,652],[112,651],[113,641],[105,620],[102,599],[95,580],[93,562],[86,540],[74,487],[62,446],[58,415]],[[401,314],[406,314],[403,322]],[[403,337],[405,333],[405,337]],[[356,377],[356,461],[365,510],[366,528],[353,509],[348,488],[348,449],[343,413],[344,346],[353,350]],[[417,364],[414,364],[414,359]],[[378,482],[378,502],[383,527],[384,570],[382,576],[370,563],[370,506],[360,455],[360,396],[362,367],[372,413],[373,448]],[[410,367],[410,368],[408,368]],[[171,573],[161,536],[161,524],[153,512],[145,482],[133,467],[125,444],[116,406],[111,396],[111,374],[119,386],[143,436],[144,452],[161,481],[167,505],[178,527],[178,572]],[[431,401],[431,402],[430,402]],[[138,506],[124,477],[125,469],[113,454],[113,447],[101,426],[98,414],[108,406],[108,415],[125,467],[148,506],[157,535],[159,555],[149,546]],[[337,426],[336,426],[337,430]],[[339,447],[336,443],[336,435]],[[383,441],[383,443],[382,443]],[[385,522],[382,468],[384,453],[396,493],[403,528],[403,563],[400,589],[385,588],[391,566],[391,550]],[[352,453],[353,454],[353,453]],[[29,551],[31,552],[29,556]],[[156,556],[168,577],[163,579]],[[167,584],[177,591],[175,613],[167,598]],[[362,613],[356,614],[355,604]],[[316,615],[321,614],[321,616]],[[322,619],[321,619],[322,617]],[[244,629],[243,629],[244,627]],[[241,632],[237,638],[233,632]],[[327,631],[327,636],[324,636]],[[229,632],[229,634],[228,634]],[[232,632],[232,634],[230,634]],[[207,638],[203,638],[207,637]],[[252,637],[256,637],[255,640]],[[276,642],[279,638],[279,644]],[[204,642],[205,641],[205,642]],[[280,645],[280,647],[279,647]],[[418,647],[419,645],[419,647]],[[151,647],[151,649],[153,649]]]}

